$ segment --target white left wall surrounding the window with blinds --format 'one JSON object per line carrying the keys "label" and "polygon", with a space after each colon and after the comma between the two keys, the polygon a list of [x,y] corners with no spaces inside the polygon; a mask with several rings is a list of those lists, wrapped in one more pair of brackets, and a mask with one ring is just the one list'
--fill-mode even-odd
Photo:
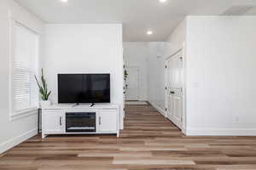
{"label": "white left wall surrounding the window with blinds", "polygon": [[24,8],[12,0],[1,0],[0,2],[0,153],[8,150],[15,144],[32,137],[37,133],[37,115],[32,114],[10,121],[9,110],[9,77],[10,77],[10,25],[9,14],[15,20],[29,26],[34,31],[43,33],[44,24]]}

